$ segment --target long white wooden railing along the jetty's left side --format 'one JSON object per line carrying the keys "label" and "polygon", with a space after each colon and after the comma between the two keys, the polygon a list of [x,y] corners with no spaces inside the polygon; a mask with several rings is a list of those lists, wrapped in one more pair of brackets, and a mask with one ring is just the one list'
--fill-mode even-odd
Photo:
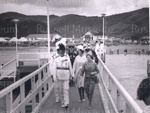
{"label": "long white wooden railing along the jetty's left side", "polygon": [[[31,85],[29,85],[31,84]],[[53,89],[49,63],[0,91],[6,99],[6,113],[37,113]]]}

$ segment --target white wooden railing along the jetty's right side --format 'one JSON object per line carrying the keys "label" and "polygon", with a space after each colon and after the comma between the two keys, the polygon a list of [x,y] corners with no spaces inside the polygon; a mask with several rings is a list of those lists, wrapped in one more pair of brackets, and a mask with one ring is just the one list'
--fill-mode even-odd
{"label": "white wooden railing along the jetty's right side", "polygon": [[129,93],[119,83],[107,66],[100,60],[99,88],[103,96],[105,112],[107,113],[143,113]]}

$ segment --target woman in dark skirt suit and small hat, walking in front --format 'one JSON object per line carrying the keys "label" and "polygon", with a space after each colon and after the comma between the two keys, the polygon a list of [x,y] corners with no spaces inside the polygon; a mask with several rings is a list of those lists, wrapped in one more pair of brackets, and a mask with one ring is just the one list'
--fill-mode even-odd
{"label": "woman in dark skirt suit and small hat, walking in front", "polygon": [[93,61],[92,54],[86,55],[87,62],[84,63],[81,69],[81,76],[85,74],[84,87],[89,100],[89,109],[91,109],[92,97],[95,88],[95,77],[99,73],[97,64]]}

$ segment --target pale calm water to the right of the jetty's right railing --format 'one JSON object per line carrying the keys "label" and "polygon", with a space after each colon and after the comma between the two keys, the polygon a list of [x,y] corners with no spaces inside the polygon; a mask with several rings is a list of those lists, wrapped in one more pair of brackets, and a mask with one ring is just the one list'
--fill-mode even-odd
{"label": "pale calm water to the right of the jetty's right railing", "polygon": [[148,55],[107,55],[106,65],[141,108],[142,101],[137,100],[137,88],[142,79],[147,77]]}

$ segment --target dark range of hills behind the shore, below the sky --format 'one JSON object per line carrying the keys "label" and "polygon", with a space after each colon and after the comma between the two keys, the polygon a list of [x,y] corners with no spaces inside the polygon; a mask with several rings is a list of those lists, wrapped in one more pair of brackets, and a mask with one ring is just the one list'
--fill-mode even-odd
{"label": "dark range of hills behind the shore, below the sky", "polygon": [[[47,17],[41,15],[23,15],[16,12],[0,14],[0,37],[14,37],[13,19],[19,19],[18,37],[29,34],[43,34],[47,32]],[[87,31],[102,32],[103,18],[87,17],[75,14],[64,16],[50,15],[50,32],[59,33],[63,37],[79,38]],[[105,35],[109,37],[128,38],[131,36],[149,35],[149,8],[142,8],[122,14],[105,17]]]}

